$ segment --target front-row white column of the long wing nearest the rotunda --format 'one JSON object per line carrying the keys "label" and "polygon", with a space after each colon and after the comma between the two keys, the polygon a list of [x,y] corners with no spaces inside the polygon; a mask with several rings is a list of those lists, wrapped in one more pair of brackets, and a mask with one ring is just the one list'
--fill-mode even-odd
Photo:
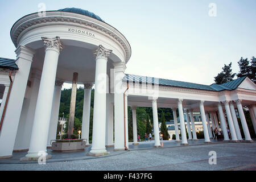
{"label": "front-row white column of the long wing nearest the rotunda", "polygon": [[153,111],[153,122],[154,122],[154,137],[155,137],[155,146],[161,147],[160,137],[159,137],[159,126],[158,126],[158,106],[156,104],[157,100],[152,100],[152,111]]}

